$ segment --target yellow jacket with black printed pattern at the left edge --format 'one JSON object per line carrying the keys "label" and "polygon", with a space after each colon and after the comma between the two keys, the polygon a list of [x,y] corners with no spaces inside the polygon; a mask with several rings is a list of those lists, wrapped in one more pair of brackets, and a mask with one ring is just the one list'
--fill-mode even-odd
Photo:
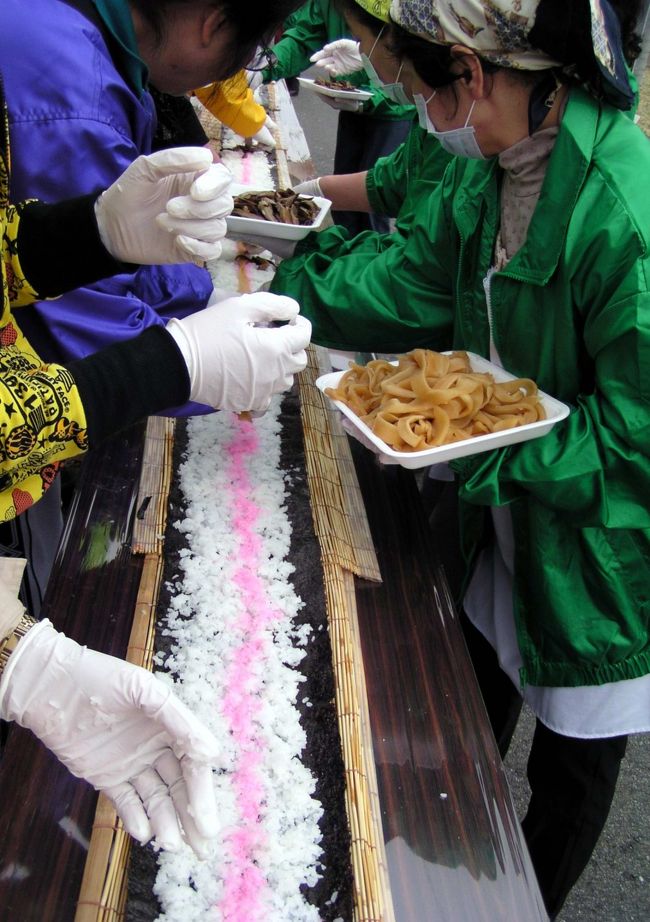
{"label": "yellow jacket with black printed pattern at the left edge", "polygon": [[20,331],[12,309],[38,297],[18,253],[21,207],[10,205],[9,135],[0,84],[0,520],[38,500],[59,462],[87,448],[86,418],[71,374],[46,365]]}

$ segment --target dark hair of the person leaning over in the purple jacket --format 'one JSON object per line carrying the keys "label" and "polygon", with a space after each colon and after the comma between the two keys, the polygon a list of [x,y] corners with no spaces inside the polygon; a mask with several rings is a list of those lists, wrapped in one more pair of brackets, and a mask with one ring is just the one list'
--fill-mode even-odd
{"label": "dark hair of the person leaning over in the purple jacket", "polygon": [[167,13],[201,2],[222,10],[232,30],[232,39],[220,61],[222,80],[249,64],[260,46],[269,46],[284,20],[301,5],[301,0],[130,0],[160,44],[166,39]]}

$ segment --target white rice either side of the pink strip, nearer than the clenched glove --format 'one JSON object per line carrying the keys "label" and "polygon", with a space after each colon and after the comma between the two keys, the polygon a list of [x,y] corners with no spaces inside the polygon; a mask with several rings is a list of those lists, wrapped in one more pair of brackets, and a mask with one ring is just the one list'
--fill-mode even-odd
{"label": "white rice either side of the pink strip, nearer than the clenched glove", "polygon": [[[314,799],[315,781],[300,761],[305,735],[296,702],[302,676],[300,661],[309,629],[294,627],[302,606],[291,585],[287,561],[291,528],[284,508],[285,475],[280,470],[278,414],[280,398],[254,421],[258,445],[240,458],[240,476],[250,484],[249,500],[258,510],[252,530],[261,544],[255,585],[263,587],[275,617],[255,630],[255,659],[250,662],[247,705],[257,751],[255,771],[262,791],[257,820],[259,847],[255,871],[264,881],[257,910],[249,917],[224,908],[223,901],[240,870],[229,845],[233,830],[243,823],[235,792],[236,766],[246,761],[237,750],[222,711],[228,695],[232,659],[249,638],[242,634],[245,602],[235,582],[241,567],[236,517],[236,472],[228,463],[230,446],[242,423],[232,414],[215,413],[188,423],[187,457],[180,469],[186,502],[185,518],[176,527],[185,535],[179,572],[172,579],[172,599],[164,633],[172,639],[171,653],[160,657],[159,677],[173,685],[181,699],[203,720],[221,743],[222,761],[215,772],[215,791],[222,828],[210,857],[199,860],[189,847],[179,853],[160,852],[155,893],[162,913],[159,922],[317,922],[315,907],[300,893],[319,876],[321,806]],[[249,424],[250,425],[250,424]],[[241,484],[239,484],[241,486]],[[235,491],[235,492],[234,492]],[[238,537],[239,534],[239,537]],[[173,677],[172,677],[173,676]]]}

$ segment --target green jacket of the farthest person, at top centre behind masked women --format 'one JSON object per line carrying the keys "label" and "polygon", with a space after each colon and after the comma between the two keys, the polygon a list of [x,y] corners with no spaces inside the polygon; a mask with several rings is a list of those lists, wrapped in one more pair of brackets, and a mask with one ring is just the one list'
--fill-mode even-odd
{"label": "green jacket of the farthest person, at top centre behind masked women", "polygon": [[[262,72],[264,82],[280,80],[283,77],[297,77],[303,70],[313,67],[309,58],[315,51],[320,51],[328,42],[349,37],[347,23],[331,0],[308,0],[289,18],[282,38],[273,46],[273,53],[278,61],[276,65],[267,67]],[[398,106],[387,99],[381,90],[368,84],[365,71],[348,74],[341,79],[372,92],[372,99],[364,103],[363,111],[366,115],[391,121],[413,117],[413,106]]]}

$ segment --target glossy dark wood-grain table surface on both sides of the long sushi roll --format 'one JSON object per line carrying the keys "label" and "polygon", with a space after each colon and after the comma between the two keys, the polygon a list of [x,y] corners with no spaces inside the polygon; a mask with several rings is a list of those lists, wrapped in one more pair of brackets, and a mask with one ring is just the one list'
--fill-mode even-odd
{"label": "glossy dark wood-grain table surface on both sides of the long sushi roll", "polygon": [[[143,431],[84,462],[44,602],[58,628],[118,656],[140,582],[130,540]],[[545,919],[413,476],[363,450],[355,461],[384,576],[358,582],[357,605],[396,920]],[[72,922],[95,792],[19,727],[0,786],[0,920]]]}

